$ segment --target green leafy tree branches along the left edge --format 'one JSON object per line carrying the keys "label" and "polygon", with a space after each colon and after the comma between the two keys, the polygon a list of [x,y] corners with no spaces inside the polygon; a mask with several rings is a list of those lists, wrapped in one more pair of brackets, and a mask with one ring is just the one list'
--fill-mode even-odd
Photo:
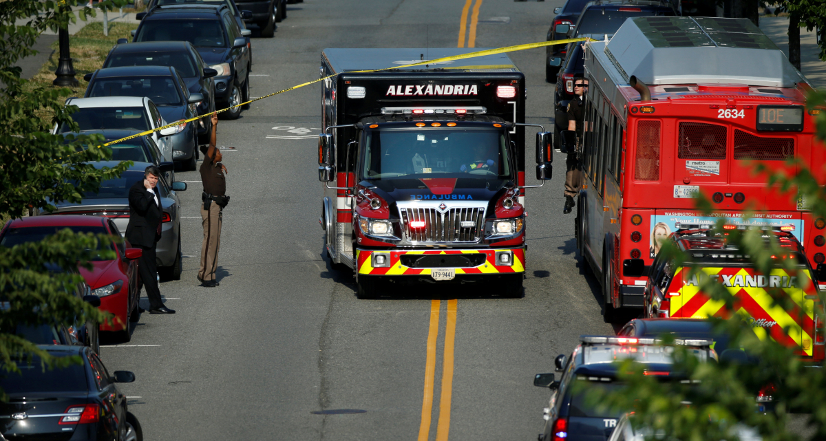
{"label": "green leafy tree branches along the left edge", "polygon": [[[97,6],[111,10],[125,3],[106,0]],[[71,8],[78,4],[82,2],[0,1],[0,213],[12,219],[29,209],[54,211],[55,201],[80,202],[83,192],[97,191],[103,180],[116,178],[129,165],[97,169],[89,164],[112,158],[108,148],[84,149],[99,145],[100,135],[69,139],[52,135],[55,125],[78,129],[71,119],[77,107],[55,104],[59,97],[69,95],[69,89],[40,87],[27,92],[23,87],[26,80],[20,78],[21,69],[15,65],[36,53],[31,47],[43,31],[56,31],[78,17],[85,20],[87,15],[94,15],[89,7],[73,13]],[[54,111],[50,126],[37,116],[42,107]],[[4,302],[0,308],[0,371],[16,371],[15,360],[33,354],[50,366],[65,363],[12,334],[16,323],[68,326],[76,320],[106,318],[70,294],[78,282],[83,282],[77,273],[78,264],[88,265],[93,253],[97,254],[90,250],[97,250],[101,240],[112,238],[74,235],[64,230],[39,244],[0,247],[0,296]],[[112,258],[112,252],[108,253]],[[55,268],[61,269],[55,273]]]}

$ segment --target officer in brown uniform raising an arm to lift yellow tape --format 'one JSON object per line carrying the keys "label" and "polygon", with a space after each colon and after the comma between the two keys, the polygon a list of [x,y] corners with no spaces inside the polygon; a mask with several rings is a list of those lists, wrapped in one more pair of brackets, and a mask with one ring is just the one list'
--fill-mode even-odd
{"label": "officer in brown uniform raising an arm to lift yellow tape", "polygon": [[201,164],[201,182],[204,192],[201,195],[201,219],[204,227],[204,241],[201,246],[201,268],[198,269],[197,279],[202,287],[217,287],[215,271],[218,268],[218,247],[221,244],[221,222],[224,207],[230,202],[226,196],[226,166],[221,164],[221,150],[216,147],[216,129],[218,115],[212,114],[212,133],[209,147],[204,153]]}

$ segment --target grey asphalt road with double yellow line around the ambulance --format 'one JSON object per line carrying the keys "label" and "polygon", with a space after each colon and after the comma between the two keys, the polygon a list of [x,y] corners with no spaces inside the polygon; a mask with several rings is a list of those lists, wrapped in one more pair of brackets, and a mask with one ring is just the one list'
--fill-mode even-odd
{"label": "grey asphalt road with double yellow line around the ambulance", "polygon": [[[562,3],[468,0],[464,43],[544,41]],[[274,38],[253,40],[251,95],[318,78],[328,47],[457,47],[463,7],[290,5]],[[527,76],[528,121],[550,125],[544,49],[510,56]],[[424,286],[359,301],[353,274],[322,257],[320,124],[317,85],[220,122],[219,145],[231,148],[220,287],[195,280],[200,176],[177,174],[189,181],[181,193],[187,257],[182,280],[161,292],[178,314],[144,314],[130,343],[102,349],[110,370],[135,372],[122,391],[146,439],[535,439],[550,393],[533,386],[534,374],[553,372],[553,358],[570,353],[580,334],[612,332],[598,284],[577,259],[573,214],[562,213],[561,156],[553,180],[527,190],[524,298]]]}

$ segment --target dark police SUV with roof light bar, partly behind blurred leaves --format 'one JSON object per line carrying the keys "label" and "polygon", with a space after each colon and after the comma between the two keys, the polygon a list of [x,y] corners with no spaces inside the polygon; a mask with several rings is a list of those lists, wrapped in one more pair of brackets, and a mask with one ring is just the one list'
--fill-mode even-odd
{"label": "dark police SUV with roof light bar, partly behind blurred leaves", "polygon": [[[583,335],[580,339],[582,343],[573,350],[571,357],[559,355],[554,361],[557,371],[563,372],[559,381],[553,373],[540,373],[534,377],[534,386],[553,390],[544,412],[545,427],[539,434],[539,441],[610,438],[624,411],[598,409],[586,400],[586,396],[592,388],[615,391],[623,386],[617,379],[615,362],[633,359],[644,365],[647,375],[661,377],[667,382],[686,380],[672,371],[673,346],[662,346],[656,339],[598,335]],[[702,362],[715,359],[711,339],[683,339],[676,343],[685,345]],[[574,387],[574,382],[580,386]]]}

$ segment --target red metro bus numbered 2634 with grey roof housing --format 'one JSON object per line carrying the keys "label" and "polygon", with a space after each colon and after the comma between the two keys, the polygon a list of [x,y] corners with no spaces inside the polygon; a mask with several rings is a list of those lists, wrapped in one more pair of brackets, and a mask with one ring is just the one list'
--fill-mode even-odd
{"label": "red metro bus numbered 2634 with grey roof housing", "polygon": [[[629,18],[609,42],[586,45],[585,69],[576,235],[606,321],[643,306],[642,268],[678,224],[784,227],[813,268],[824,263],[826,221],[795,188],[753,173],[765,164],[793,175],[787,160],[800,159],[822,184],[826,149],[805,109],[807,80],[751,21]],[[714,216],[695,209],[697,192]],[[758,214],[746,220],[746,210]]]}

